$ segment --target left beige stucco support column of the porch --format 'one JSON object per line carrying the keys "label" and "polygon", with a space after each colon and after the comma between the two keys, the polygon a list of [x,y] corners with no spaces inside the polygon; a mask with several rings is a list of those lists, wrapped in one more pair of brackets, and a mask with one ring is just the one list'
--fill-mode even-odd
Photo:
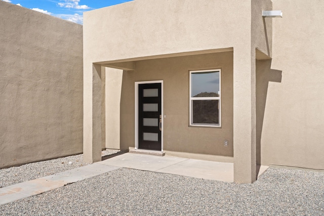
{"label": "left beige stucco support column of the porch", "polygon": [[84,67],[84,161],[101,161],[101,65]]}

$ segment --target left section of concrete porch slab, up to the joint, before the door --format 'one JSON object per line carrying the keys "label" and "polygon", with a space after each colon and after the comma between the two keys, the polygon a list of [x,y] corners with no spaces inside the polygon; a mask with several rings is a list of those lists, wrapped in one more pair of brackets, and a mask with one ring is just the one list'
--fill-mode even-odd
{"label": "left section of concrete porch slab, up to the joint, before the door", "polygon": [[110,166],[156,171],[185,160],[188,160],[188,158],[172,156],[160,157],[155,155],[125,153],[97,163]]}

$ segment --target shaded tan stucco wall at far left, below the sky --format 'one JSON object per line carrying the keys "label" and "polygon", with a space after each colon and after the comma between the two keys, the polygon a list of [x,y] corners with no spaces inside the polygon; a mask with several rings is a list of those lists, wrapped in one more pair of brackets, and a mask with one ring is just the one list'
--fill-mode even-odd
{"label": "shaded tan stucco wall at far left, below the sky", "polygon": [[0,167],[82,152],[82,25],[0,1]]}

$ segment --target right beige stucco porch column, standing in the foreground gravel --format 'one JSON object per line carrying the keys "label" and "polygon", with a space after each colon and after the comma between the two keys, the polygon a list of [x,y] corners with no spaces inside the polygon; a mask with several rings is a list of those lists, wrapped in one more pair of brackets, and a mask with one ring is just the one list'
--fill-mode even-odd
{"label": "right beige stucco porch column, standing in the foreground gravel", "polygon": [[255,49],[234,49],[234,182],[256,181],[256,69]]}

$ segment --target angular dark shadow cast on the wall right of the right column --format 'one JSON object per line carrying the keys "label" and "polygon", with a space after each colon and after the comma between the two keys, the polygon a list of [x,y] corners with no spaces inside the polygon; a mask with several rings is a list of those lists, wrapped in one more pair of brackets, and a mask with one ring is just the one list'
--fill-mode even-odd
{"label": "angular dark shadow cast on the wall right of the right column", "polygon": [[271,60],[256,62],[257,164],[261,164],[261,134],[269,82],[281,82],[281,70],[271,69]]}

